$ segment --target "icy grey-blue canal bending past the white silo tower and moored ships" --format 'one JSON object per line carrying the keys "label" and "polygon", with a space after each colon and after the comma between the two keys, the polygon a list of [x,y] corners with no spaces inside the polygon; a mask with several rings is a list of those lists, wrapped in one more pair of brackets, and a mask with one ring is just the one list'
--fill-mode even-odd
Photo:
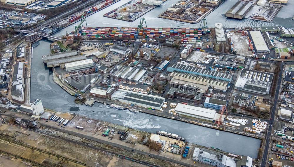
{"label": "icy grey-blue canal bending past the white silo tower and moored ships", "polygon": [[106,105],[81,106],[74,103],[74,97],[54,83],[52,70],[44,66],[42,56],[50,54],[50,42],[45,40],[33,44],[31,62],[31,100],[41,98],[43,106],[60,112],[71,112],[91,118],[116,123],[142,131],[156,133],[167,131],[186,138],[188,142],[207,147],[221,148],[238,155],[257,157],[260,140],[234,133],[192,125],[181,121],[152,116],[145,113],[117,111]]}

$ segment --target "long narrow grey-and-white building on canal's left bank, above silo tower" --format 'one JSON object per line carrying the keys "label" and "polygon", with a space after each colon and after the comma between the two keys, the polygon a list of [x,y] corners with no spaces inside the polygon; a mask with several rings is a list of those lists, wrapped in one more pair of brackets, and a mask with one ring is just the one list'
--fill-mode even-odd
{"label": "long narrow grey-and-white building on canal's left bank, above silo tower", "polygon": [[24,63],[19,62],[14,65],[11,97],[12,100],[18,103],[24,103]]}

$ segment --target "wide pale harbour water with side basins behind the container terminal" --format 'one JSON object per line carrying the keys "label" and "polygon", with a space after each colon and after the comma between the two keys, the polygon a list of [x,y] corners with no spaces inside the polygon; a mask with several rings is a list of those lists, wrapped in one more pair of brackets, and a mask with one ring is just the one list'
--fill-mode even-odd
{"label": "wide pale harbour water with side basins behind the container terminal", "polygon": [[[127,3],[129,0],[121,0],[101,11],[98,11],[88,17],[86,17],[87,24],[89,27],[137,27],[140,23],[140,18],[136,19],[133,22],[127,22],[117,19],[111,19],[108,17],[103,17],[103,14],[106,14],[113,9],[121,6],[122,4]],[[292,17],[294,15],[293,5],[294,1],[288,1],[288,4],[283,6],[281,11],[277,14],[275,19],[269,23],[264,21],[257,21],[251,19],[227,19],[224,16],[225,12],[230,9],[238,0],[226,0],[222,5],[220,5],[217,9],[211,12],[208,16],[205,17],[207,20],[208,27],[214,27],[214,24],[220,22],[223,24],[225,28],[234,28],[234,27],[259,27],[259,26],[285,26],[287,28],[294,27],[294,21]],[[178,0],[168,0],[160,6],[156,7],[152,11],[148,12],[141,16],[141,18],[146,19],[146,23],[148,27],[199,27],[198,24],[180,24],[176,23],[176,21],[169,19],[158,18],[157,16],[165,11],[167,8],[176,4]],[[79,22],[78,22],[79,23]],[[66,32],[71,32],[74,30],[76,26],[75,23],[62,29],[61,31],[54,34],[54,36],[61,36],[66,34]],[[84,25],[85,26],[85,25]]]}

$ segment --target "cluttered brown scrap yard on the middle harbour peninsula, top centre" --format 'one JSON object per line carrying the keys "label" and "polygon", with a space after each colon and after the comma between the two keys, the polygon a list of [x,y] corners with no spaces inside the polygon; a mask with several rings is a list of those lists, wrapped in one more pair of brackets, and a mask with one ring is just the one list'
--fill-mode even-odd
{"label": "cluttered brown scrap yard on the middle harbour peninsula, top centre", "polygon": [[157,17],[187,23],[198,23],[224,1],[221,0],[218,4],[214,4],[202,0],[180,0]]}

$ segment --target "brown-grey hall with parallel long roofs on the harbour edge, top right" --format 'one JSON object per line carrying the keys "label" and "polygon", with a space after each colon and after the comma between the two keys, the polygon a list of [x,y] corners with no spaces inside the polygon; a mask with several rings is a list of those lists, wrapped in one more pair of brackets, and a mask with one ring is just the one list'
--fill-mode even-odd
{"label": "brown-grey hall with parallel long roofs on the harbour edge, top right", "polygon": [[231,9],[229,9],[226,13],[226,17],[231,17],[235,19],[243,19],[243,17],[247,14],[247,12],[251,9],[251,2],[243,2],[238,1],[233,5]]}

